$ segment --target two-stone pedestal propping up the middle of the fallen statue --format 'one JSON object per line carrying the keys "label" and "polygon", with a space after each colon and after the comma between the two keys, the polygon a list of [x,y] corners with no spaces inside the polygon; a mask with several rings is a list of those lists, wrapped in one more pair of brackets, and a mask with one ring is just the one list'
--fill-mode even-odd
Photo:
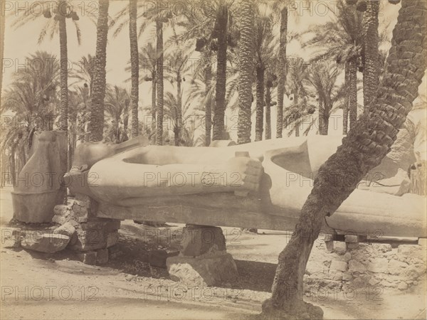
{"label": "two-stone pedestal propping up the middle of the fallen statue", "polygon": [[215,286],[238,277],[221,228],[186,225],[178,256],[166,260],[169,276],[186,285]]}

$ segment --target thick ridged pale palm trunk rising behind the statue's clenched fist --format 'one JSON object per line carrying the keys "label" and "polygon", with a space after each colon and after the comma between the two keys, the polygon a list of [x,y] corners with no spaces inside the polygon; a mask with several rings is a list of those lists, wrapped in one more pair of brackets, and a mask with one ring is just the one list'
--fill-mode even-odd
{"label": "thick ridged pale palm trunk rising behind the statue's clenched fist", "polygon": [[237,143],[251,142],[251,105],[253,81],[253,1],[241,3],[239,46]]}

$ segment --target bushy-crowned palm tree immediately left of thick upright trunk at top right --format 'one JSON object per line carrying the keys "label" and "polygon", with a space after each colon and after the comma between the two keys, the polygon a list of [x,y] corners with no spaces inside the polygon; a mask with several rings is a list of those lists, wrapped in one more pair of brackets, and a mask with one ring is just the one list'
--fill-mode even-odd
{"label": "bushy-crowned palm tree immediately left of thick upright trunk at top right", "polygon": [[[321,46],[323,49],[315,60],[334,58],[345,66],[345,82],[348,88],[348,104],[344,105],[343,127],[352,129],[357,120],[357,70],[361,65],[364,43],[363,15],[358,10],[349,10],[344,0],[337,3],[337,14],[332,21],[310,28],[315,33],[305,46]],[[347,109],[348,107],[348,109]],[[344,132],[347,134],[347,130]]]}

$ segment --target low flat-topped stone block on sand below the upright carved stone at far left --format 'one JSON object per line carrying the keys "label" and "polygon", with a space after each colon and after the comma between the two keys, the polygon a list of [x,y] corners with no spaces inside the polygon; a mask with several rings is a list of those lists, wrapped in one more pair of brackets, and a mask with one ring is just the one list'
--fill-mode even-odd
{"label": "low flat-topped stone block on sand below the upright carved stone at far left", "polygon": [[21,241],[24,249],[38,252],[53,253],[65,249],[70,242],[68,235],[59,235],[55,233],[26,233]]}

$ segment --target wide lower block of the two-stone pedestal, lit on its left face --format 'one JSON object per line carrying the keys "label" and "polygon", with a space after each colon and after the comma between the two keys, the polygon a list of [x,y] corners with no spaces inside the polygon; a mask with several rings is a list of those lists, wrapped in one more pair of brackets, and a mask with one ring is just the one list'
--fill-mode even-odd
{"label": "wide lower block of the two-stone pedestal, lit on its left face", "polygon": [[215,286],[238,277],[236,263],[228,253],[204,258],[168,257],[166,264],[172,280],[191,286]]}

